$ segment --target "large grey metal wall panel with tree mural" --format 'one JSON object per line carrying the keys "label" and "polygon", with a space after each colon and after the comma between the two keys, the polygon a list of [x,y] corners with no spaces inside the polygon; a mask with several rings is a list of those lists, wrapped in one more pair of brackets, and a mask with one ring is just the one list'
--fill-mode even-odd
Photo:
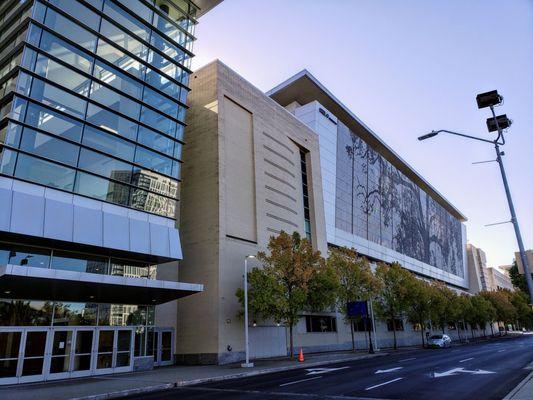
{"label": "large grey metal wall panel with tree mural", "polygon": [[340,121],[335,226],[464,277],[461,222]]}

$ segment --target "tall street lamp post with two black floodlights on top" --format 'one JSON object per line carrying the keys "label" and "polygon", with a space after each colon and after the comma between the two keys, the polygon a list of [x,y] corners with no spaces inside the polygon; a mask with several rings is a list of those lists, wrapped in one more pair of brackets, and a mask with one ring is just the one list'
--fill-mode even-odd
{"label": "tall street lamp post with two black floodlights on top", "polygon": [[[492,118],[487,119],[487,127],[490,132],[497,130],[498,136],[495,140],[487,140],[482,139],[475,136],[465,135],[458,132],[452,132],[445,129],[441,129],[438,131],[431,131],[430,133],[420,136],[418,140],[426,140],[429,138],[432,138],[434,136],[437,136],[439,133],[448,133],[450,135],[455,136],[461,136],[467,139],[471,140],[477,140],[480,142],[486,142],[491,143],[494,145],[494,149],[496,150],[496,162],[500,166],[500,173],[502,175],[503,180],[503,186],[505,188],[505,195],[507,196],[507,202],[509,204],[509,211],[511,212],[511,221],[513,223],[515,235],[516,235],[516,241],[518,242],[518,250],[520,252],[520,260],[522,261],[522,265],[524,267],[524,275],[526,276],[526,282],[529,289],[529,298],[530,298],[530,304],[533,304],[533,281],[531,279],[531,272],[529,269],[526,252],[524,250],[524,243],[522,241],[522,234],[520,233],[520,227],[518,226],[518,219],[516,217],[516,212],[514,209],[513,204],[513,198],[511,197],[511,191],[509,190],[509,183],[507,182],[507,175],[505,174],[505,168],[503,166],[503,160],[502,156],[505,154],[503,151],[500,151],[500,146],[503,146],[505,144],[505,137],[503,136],[503,129],[509,127],[511,125],[511,121],[507,119],[507,116],[500,115],[496,116],[494,112],[494,106],[498,105],[502,102],[503,97],[501,97],[497,91],[482,93],[477,96],[477,102],[479,108],[485,108],[490,107],[490,110],[492,112]],[[503,126],[502,126],[503,125]]]}

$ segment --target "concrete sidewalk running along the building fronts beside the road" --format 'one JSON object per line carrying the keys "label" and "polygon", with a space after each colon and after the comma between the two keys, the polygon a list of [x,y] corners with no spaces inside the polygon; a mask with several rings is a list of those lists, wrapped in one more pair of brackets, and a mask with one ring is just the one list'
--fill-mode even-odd
{"label": "concrete sidewalk running along the building fronts beside the road", "polygon": [[100,375],[80,379],[49,381],[0,387],[0,399],[9,400],[100,400],[131,394],[147,393],[176,386],[243,378],[297,368],[310,368],[343,361],[361,360],[387,355],[364,352],[311,354],[304,362],[288,358],[258,360],[254,368],[243,369],[238,364],[225,366],[171,366],[147,372]]}

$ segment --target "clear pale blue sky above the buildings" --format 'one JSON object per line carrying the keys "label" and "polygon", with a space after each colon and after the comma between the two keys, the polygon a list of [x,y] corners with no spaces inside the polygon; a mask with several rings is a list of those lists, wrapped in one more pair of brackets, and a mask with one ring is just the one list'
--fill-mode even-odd
{"label": "clear pale blue sky above the buildings", "polygon": [[533,248],[533,1],[225,0],[201,18],[193,67],[219,58],[266,91],[307,68],[468,218],[489,265],[517,249],[477,93],[498,89],[514,120],[505,164]]}

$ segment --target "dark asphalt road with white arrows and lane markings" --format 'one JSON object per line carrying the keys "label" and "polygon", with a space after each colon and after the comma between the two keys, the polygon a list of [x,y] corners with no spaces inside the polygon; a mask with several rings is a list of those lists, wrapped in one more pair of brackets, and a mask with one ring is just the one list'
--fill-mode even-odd
{"label": "dark asphalt road with white arrows and lane markings", "polygon": [[533,335],[413,350],[367,360],[228,380],[164,392],[142,399],[502,399],[530,371]]}

